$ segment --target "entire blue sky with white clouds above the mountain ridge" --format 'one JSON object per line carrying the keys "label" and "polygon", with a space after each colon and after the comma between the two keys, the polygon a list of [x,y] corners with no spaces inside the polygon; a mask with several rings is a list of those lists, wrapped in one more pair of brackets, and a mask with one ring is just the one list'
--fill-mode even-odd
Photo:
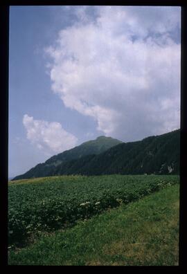
{"label": "entire blue sky with white clouds above the mountain ridge", "polygon": [[8,176],[180,127],[181,8],[10,6]]}

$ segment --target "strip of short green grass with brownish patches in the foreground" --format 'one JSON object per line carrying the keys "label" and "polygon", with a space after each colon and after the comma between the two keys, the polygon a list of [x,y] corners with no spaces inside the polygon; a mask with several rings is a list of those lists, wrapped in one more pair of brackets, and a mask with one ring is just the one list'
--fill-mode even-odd
{"label": "strip of short green grass with brownish patches in the foreground", "polygon": [[9,265],[178,265],[179,185],[10,250]]}

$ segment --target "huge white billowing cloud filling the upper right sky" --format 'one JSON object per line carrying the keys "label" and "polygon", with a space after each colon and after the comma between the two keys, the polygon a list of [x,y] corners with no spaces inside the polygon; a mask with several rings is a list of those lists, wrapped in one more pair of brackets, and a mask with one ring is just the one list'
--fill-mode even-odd
{"label": "huge white billowing cloud filling the upper right sky", "polygon": [[46,48],[53,92],[121,140],[179,128],[180,9],[90,9]]}

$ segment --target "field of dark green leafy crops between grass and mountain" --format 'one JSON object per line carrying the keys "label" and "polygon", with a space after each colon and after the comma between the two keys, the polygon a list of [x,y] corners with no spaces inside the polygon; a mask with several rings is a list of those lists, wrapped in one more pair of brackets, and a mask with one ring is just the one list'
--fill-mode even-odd
{"label": "field of dark green leafy crops between grass and mountain", "polygon": [[54,176],[8,185],[9,245],[179,183],[177,175]]}

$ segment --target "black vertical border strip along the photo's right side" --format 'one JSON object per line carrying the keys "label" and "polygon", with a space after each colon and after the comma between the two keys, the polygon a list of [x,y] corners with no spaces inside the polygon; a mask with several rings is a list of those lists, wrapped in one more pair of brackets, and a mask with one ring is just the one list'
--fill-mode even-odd
{"label": "black vertical border strip along the photo's right side", "polygon": [[180,215],[179,215],[179,265],[186,265],[186,172],[187,172],[187,6],[181,8],[181,140],[180,140]]}

